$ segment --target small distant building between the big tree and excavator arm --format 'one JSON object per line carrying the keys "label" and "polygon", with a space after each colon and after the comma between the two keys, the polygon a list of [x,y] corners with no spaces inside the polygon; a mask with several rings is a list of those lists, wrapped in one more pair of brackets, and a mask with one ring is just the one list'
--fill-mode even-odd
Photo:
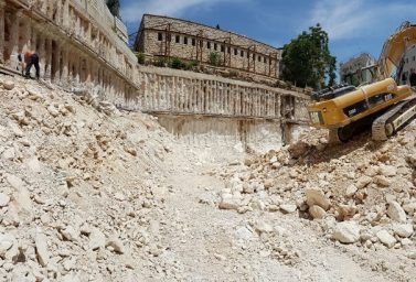
{"label": "small distant building between the big tree and excavator arm", "polygon": [[366,53],[340,64],[340,80],[350,85],[360,85],[372,80],[372,68],[376,61]]}

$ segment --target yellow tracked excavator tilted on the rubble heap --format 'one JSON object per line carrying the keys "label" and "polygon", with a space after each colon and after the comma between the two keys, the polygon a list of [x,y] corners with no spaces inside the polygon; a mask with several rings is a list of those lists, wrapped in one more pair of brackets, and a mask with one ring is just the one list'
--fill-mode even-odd
{"label": "yellow tracked excavator tilted on the rubble heap", "polygon": [[397,83],[404,55],[413,44],[416,44],[416,25],[405,22],[384,43],[371,83],[313,93],[314,102],[308,106],[311,124],[329,129],[329,139],[342,142],[370,126],[373,140],[387,140],[397,132],[416,116],[416,89]]}

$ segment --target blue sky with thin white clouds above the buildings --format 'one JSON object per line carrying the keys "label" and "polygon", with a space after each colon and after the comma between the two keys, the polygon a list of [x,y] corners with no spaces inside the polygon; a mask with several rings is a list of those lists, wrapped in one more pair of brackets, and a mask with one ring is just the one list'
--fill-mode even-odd
{"label": "blue sky with thin white clouds above the buildings", "polygon": [[120,0],[120,6],[129,33],[146,12],[220,24],[276,47],[319,22],[338,63],[362,52],[377,58],[402,22],[416,22],[414,0]]}

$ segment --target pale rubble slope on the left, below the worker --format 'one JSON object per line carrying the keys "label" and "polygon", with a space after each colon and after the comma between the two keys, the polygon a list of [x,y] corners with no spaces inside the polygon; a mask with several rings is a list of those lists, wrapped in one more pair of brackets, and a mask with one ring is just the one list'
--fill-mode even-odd
{"label": "pale rubble slope on the left, below the worker", "polygon": [[98,105],[0,76],[1,281],[139,281],[161,253],[153,189],[172,140]]}

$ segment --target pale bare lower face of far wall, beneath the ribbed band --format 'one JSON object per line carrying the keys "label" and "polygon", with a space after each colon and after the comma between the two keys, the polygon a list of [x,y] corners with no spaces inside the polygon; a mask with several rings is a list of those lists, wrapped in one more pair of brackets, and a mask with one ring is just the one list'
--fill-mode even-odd
{"label": "pale bare lower face of far wall, beneath the ribbed band", "polygon": [[280,123],[271,120],[164,115],[158,115],[158,120],[180,142],[211,159],[230,159],[247,150],[267,152],[282,145]]}

